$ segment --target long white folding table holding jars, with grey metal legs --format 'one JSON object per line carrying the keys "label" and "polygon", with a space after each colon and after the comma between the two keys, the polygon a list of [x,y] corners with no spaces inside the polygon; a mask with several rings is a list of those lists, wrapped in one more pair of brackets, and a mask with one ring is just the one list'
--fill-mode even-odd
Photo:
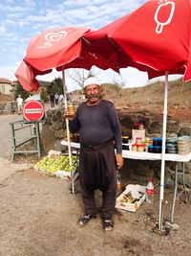
{"label": "long white folding table holding jars, with grey metal legs", "polygon": [[[61,141],[61,144],[64,146],[68,146],[68,141]],[[77,150],[80,149],[80,144],[77,142],[71,142],[71,148],[74,148]],[[123,158],[129,158],[129,159],[136,159],[136,160],[161,160],[161,153],[153,153],[153,152],[139,152],[139,151],[122,151]],[[174,212],[175,212],[175,204],[176,199],[180,197],[180,195],[184,192],[185,195],[185,202],[187,202],[187,193],[186,193],[186,187],[185,187],[185,180],[184,180],[184,174],[185,174],[185,168],[184,163],[189,162],[191,160],[191,152],[188,154],[177,154],[177,153],[165,153],[165,161],[173,161],[176,163],[175,167],[175,191],[174,191],[174,198],[172,203],[172,211],[171,211],[171,223],[174,223]],[[182,163],[181,170],[179,172],[179,166],[178,163]],[[183,183],[183,189],[180,191],[179,196],[177,196],[177,190],[178,190],[178,175],[182,175],[182,183]]]}

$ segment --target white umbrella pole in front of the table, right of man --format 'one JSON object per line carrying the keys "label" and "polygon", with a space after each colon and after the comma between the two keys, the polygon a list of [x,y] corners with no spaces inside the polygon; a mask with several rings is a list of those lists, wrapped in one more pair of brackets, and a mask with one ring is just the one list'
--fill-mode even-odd
{"label": "white umbrella pole in front of the table, right of man", "polygon": [[164,196],[164,172],[165,172],[165,144],[167,124],[167,103],[168,103],[168,72],[165,72],[163,125],[162,125],[162,149],[161,149],[161,172],[160,172],[160,193],[159,193],[159,230],[162,231],[163,196]]}

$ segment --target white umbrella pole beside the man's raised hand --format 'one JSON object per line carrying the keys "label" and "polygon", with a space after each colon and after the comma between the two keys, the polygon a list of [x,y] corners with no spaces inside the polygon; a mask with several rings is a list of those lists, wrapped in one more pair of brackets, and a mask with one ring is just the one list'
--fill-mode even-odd
{"label": "white umbrella pole beside the man's raised hand", "polygon": [[[64,91],[64,107],[67,109],[67,95],[66,95],[66,81],[64,69],[62,69],[62,81],[63,81],[63,91]],[[71,169],[71,189],[74,194],[74,176],[73,176],[73,164],[72,164],[72,152],[71,152],[71,137],[69,130],[69,120],[66,118],[66,130],[67,130],[67,140],[68,140],[68,151],[69,151],[69,164]]]}

